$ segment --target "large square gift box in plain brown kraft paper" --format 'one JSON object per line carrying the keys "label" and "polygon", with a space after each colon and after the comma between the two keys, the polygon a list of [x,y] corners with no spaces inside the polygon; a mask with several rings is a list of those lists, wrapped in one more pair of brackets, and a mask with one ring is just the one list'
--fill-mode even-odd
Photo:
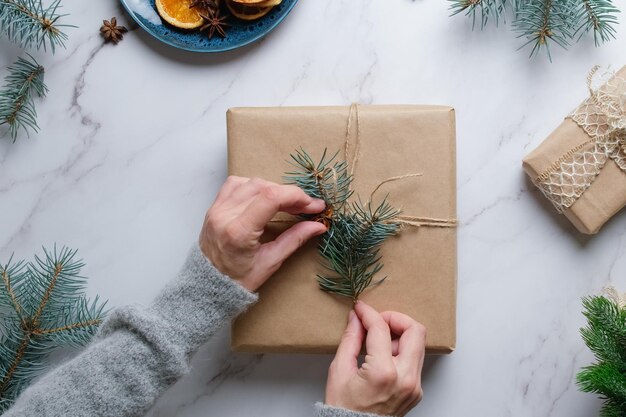
{"label": "large square gift box in plain brown kraft paper", "polygon": [[[456,160],[454,109],[444,106],[235,108],[227,113],[229,174],[282,183],[302,148],[314,160],[325,149],[353,163],[353,190],[381,193],[413,219],[382,246],[379,285],[361,299],[424,324],[427,351],[449,353],[456,337]],[[346,148],[346,142],[348,147]],[[356,198],[356,197],[354,197]],[[282,217],[281,217],[282,216]],[[284,218],[285,214],[278,217]],[[415,226],[419,227],[415,227]],[[264,239],[289,227],[271,222]],[[314,239],[315,240],[315,239]],[[352,301],[323,292],[317,242],[290,257],[259,289],[259,302],[233,323],[235,351],[334,353]]]}

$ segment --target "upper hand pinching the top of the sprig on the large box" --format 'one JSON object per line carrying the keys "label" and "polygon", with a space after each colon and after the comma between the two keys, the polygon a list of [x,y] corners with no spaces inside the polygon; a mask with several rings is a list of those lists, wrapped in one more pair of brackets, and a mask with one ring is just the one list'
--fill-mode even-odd
{"label": "upper hand pinching the top of the sprig on the large box", "polygon": [[321,223],[303,221],[261,244],[272,217],[279,211],[314,214],[324,208],[323,200],[294,185],[231,176],[206,214],[200,249],[220,272],[255,291],[307,240],[326,231]]}

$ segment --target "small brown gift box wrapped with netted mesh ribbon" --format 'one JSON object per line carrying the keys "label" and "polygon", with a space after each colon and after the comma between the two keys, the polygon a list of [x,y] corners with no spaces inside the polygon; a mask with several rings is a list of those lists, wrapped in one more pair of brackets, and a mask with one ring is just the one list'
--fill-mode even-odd
{"label": "small brown gift box wrapped with netted mesh ribbon", "polygon": [[533,183],[582,233],[595,234],[626,205],[626,67],[590,96],[523,160]]}

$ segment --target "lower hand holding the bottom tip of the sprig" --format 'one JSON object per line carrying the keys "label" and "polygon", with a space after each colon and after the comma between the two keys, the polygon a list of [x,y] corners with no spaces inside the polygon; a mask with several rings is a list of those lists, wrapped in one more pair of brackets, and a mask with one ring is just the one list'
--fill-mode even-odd
{"label": "lower hand holding the bottom tip of the sprig", "polygon": [[[367,354],[359,367],[363,339]],[[357,302],[328,371],[326,404],[404,416],[422,399],[425,345],[426,329],[409,316]]]}

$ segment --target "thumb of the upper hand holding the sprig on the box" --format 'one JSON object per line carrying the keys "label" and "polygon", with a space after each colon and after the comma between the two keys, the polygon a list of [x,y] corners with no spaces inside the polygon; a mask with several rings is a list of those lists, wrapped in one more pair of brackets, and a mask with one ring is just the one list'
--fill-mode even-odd
{"label": "thumb of the upper hand holding the sprig on the box", "polygon": [[326,226],[316,222],[300,222],[291,226],[271,242],[264,243],[257,253],[255,268],[267,271],[262,275],[271,275],[298,248],[313,236],[326,232]]}

